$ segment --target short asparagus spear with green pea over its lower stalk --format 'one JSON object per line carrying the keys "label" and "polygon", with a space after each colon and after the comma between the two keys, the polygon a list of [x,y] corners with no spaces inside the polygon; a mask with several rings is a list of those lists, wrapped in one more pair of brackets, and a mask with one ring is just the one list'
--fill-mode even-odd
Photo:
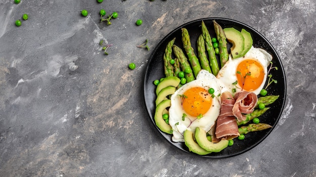
{"label": "short asparagus spear with green pea over its lower stalk", "polygon": [[[176,55],[176,57],[179,59],[180,66],[183,71],[185,70],[185,68],[191,69],[189,62],[180,47],[173,45],[173,52]],[[184,73],[184,77],[186,78],[187,83],[195,79],[192,72]]]}

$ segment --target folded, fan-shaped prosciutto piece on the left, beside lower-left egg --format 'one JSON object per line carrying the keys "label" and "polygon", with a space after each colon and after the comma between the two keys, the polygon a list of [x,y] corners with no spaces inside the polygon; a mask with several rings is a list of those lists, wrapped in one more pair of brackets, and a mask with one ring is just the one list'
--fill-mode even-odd
{"label": "folded, fan-shaped prosciutto piece on the left, beside lower-left egg", "polygon": [[220,116],[217,118],[215,135],[216,138],[233,139],[239,136],[236,118],[233,114],[235,104],[234,97],[230,92],[222,93],[222,105]]}

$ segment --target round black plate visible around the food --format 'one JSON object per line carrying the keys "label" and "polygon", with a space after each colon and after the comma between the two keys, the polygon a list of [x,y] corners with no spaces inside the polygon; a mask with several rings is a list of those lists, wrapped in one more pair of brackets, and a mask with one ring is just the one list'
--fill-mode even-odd
{"label": "round black plate visible around the food", "polygon": [[[253,39],[253,46],[255,48],[263,48],[267,50],[270,54],[272,54],[273,66],[277,66],[278,70],[272,69],[270,73],[272,74],[273,78],[278,81],[278,83],[272,83],[269,86],[268,95],[279,95],[280,97],[275,103],[270,105],[269,106],[270,109],[264,115],[260,117],[261,123],[270,124],[271,126],[273,126],[273,128],[277,125],[278,120],[280,119],[283,108],[284,108],[285,97],[286,97],[286,79],[285,79],[284,69],[283,69],[281,60],[277,52],[275,51],[275,49],[269,43],[269,41],[253,28],[243,23],[237,22],[235,20],[224,19],[224,18],[199,19],[199,20],[186,23],[176,28],[171,33],[169,33],[155,47],[155,49],[153,50],[153,52],[151,53],[149,57],[145,74],[144,74],[144,80],[143,80],[144,100],[145,100],[145,105],[149,113],[151,122],[153,123],[153,126],[173,146],[177,147],[178,149],[184,152],[190,153],[192,155],[197,155],[197,154],[190,152],[183,142],[179,142],[179,143],[173,142],[171,139],[172,135],[166,134],[160,131],[159,128],[156,127],[155,122],[154,122],[156,86],[153,84],[153,81],[155,79],[160,79],[162,77],[165,77],[163,56],[165,53],[167,43],[176,37],[175,44],[183,48],[182,41],[181,41],[181,28],[186,28],[189,31],[192,47],[194,48],[195,51],[197,51],[196,41],[197,41],[198,36],[201,34],[202,20],[204,21],[206,27],[208,28],[208,31],[211,37],[216,37],[216,33],[214,31],[214,26],[213,26],[213,21],[215,20],[218,24],[222,26],[222,28],[234,27],[235,29],[239,31],[242,28],[245,29],[246,31],[251,33],[251,36]],[[238,140],[237,138],[235,138],[234,145],[225,148],[221,152],[218,152],[218,153],[213,152],[208,155],[197,155],[197,156],[206,157],[206,158],[226,158],[226,157],[232,157],[232,156],[244,153],[250,150],[251,148],[255,147],[256,145],[258,145],[260,142],[262,142],[272,132],[273,128],[270,128],[264,131],[248,133],[245,135],[244,140]]]}

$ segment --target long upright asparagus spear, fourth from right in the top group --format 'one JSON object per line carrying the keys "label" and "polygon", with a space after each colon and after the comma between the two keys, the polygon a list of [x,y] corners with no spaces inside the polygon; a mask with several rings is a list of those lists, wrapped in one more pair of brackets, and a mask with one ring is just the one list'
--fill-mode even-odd
{"label": "long upright asparagus spear, fourth from right in the top group", "polygon": [[190,35],[187,29],[182,28],[182,42],[185,52],[187,53],[188,60],[191,63],[194,77],[197,76],[198,72],[201,70],[200,63],[194,53],[193,48],[191,47]]}

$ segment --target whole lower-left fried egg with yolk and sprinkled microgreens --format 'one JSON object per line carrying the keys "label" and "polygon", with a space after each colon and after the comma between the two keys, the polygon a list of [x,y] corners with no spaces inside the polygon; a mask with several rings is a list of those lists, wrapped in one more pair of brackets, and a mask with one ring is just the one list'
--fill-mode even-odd
{"label": "whole lower-left fried egg with yolk and sprinkled microgreens", "polygon": [[[214,94],[209,94],[209,88]],[[206,70],[199,71],[196,79],[181,86],[171,96],[169,124],[172,140],[184,141],[183,133],[200,127],[206,132],[215,124],[221,109],[221,90],[217,78]]]}

